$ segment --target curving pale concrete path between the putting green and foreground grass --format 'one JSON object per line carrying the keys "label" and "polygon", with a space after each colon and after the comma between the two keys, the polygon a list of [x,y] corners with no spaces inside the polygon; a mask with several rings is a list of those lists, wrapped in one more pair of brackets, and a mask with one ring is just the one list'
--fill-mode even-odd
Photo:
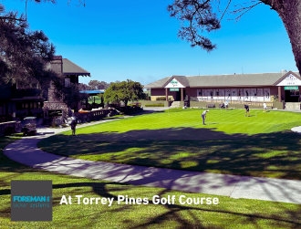
{"label": "curving pale concrete path between the putting green and foreground grass", "polygon": [[84,161],[58,156],[36,148],[37,141],[59,131],[61,130],[40,129],[36,136],[27,137],[9,144],[5,148],[4,153],[14,161],[48,172],[58,172],[111,182],[162,187],[183,192],[301,203],[301,181]]}

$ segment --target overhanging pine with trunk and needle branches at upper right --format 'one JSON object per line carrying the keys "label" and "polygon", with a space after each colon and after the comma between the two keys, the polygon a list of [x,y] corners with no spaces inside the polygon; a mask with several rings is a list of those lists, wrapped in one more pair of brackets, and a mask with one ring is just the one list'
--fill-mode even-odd
{"label": "overhanging pine with trunk and needle branches at upper right", "polygon": [[[249,4],[234,5],[234,0],[228,0],[221,5],[220,0],[174,0],[168,5],[171,16],[182,22],[179,36],[191,43],[192,47],[202,47],[207,51],[215,48],[212,41],[205,36],[213,30],[221,28],[223,16],[231,11],[237,18],[243,16],[254,6],[259,4],[269,5],[282,19],[290,39],[296,67],[301,74],[301,1],[300,0],[250,0]],[[224,3],[224,2],[223,2]],[[223,6],[223,10],[219,10]]]}

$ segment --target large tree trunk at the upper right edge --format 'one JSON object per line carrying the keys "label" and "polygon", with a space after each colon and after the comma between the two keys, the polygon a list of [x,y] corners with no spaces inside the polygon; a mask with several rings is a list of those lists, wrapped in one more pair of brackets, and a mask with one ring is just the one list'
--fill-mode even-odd
{"label": "large tree trunk at the upper right edge", "polygon": [[281,17],[292,45],[296,68],[301,74],[301,1],[262,0],[262,2],[270,5]]}

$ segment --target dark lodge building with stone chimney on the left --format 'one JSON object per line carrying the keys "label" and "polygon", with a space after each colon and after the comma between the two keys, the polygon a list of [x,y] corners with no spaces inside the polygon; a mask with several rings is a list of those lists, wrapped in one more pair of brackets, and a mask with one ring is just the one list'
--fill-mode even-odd
{"label": "dark lodge building with stone chimney on the left", "polygon": [[[90,73],[79,67],[67,58],[55,56],[46,68],[57,73],[65,87],[65,94],[71,92],[73,85],[78,85],[79,77],[89,77]],[[44,85],[47,88],[43,94],[41,85],[32,82],[24,88],[17,88],[11,84],[0,86],[0,122],[23,119],[26,116],[48,119],[49,117],[61,116],[63,111],[68,110],[67,104],[62,99],[57,99],[57,88],[53,83]],[[73,108],[78,109],[78,104]]]}

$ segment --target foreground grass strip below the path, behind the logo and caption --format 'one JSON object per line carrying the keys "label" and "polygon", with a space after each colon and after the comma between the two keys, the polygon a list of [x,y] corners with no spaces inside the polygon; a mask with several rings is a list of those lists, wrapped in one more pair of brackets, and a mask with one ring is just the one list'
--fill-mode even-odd
{"label": "foreground grass strip below the path, behind the logo and caption", "polygon": [[[0,143],[1,144],[1,143]],[[301,206],[292,203],[231,199],[202,193],[182,193],[103,182],[42,172],[9,161],[0,152],[0,228],[299,228]],[[10,219],[10,182],[12,180],[51,180],[53,182],[52,222],[12,222]],[[63,195],[71,196],[72,204],[60,205]],[[76,202],[76,195],[85,198],[114,198],[112,206],[85,205]],[[173,204],[152,202],[155,195],[175,195]],[[181,204],[179,197],[218,198],[216,205]],[[148,204],[121,202],[118,196],[148,198]]]}

